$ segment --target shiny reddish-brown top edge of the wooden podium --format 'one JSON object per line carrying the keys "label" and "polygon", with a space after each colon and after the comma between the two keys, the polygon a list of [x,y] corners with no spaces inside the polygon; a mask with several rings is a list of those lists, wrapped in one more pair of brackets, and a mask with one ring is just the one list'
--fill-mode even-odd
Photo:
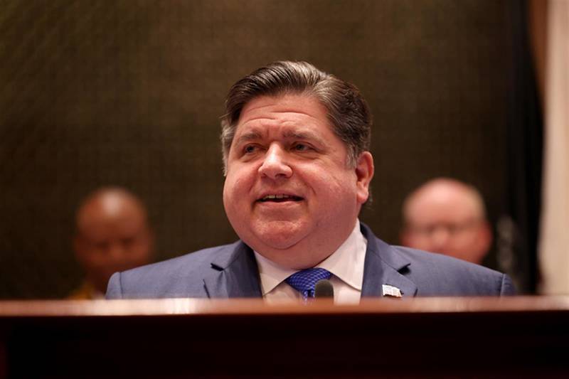
{"label": "shiny reddish-brown top edge of the wooden podium", "polygon": [[569,312],[569,296],[558,297],[422,297],[361,299],[357,305],[262,299],[134,299],[0,301],[0,317],[30,316],[175,316],[283,314],[425,314]]}

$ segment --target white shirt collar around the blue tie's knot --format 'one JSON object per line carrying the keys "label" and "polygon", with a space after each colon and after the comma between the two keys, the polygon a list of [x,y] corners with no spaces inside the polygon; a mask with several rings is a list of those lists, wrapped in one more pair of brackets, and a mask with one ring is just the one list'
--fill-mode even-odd
{"label": "white shirt collar around the blue tie's knot", "polygon": [[[327,269],[334,276],[341,279],[349,286],[361,291],[363,283],[363,262],[366,259],[367,240],[360,230],[360,222],[356,220],[356,226],[344,243],[334,253],[319,263],[316,267]],[[295,269],[287,269],[254,251],[261,279],[261,291],[263,296],[271,292],[287,277],[297,272]]]}

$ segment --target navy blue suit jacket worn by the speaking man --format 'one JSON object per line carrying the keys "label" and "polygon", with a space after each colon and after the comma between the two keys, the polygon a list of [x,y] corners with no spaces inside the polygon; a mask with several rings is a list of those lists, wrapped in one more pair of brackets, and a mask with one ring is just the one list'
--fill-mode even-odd
{"label": "navy blue suit jacket worn by the speaking man", "polygon": [[[368,240],[362,297],[381,297],[382,284],[398,287],[403,297],[514,294],[505,274],[445,255],[388,245],[363,224],[361,231]],[[255,255],[238,241],[117,272],[107,287],[107,299],[166,297],[262,297]]]}

